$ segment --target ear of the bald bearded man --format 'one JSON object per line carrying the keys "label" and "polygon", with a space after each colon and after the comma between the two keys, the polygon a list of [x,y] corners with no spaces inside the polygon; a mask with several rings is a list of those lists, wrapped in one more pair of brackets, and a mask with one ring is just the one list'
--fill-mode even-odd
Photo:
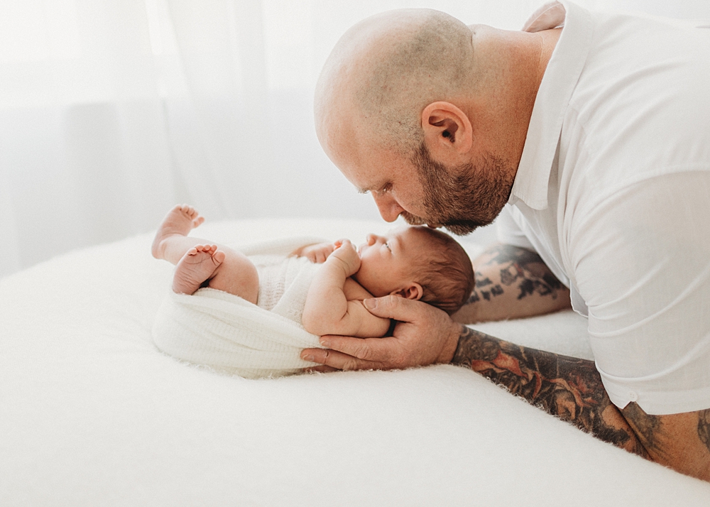
{"label": "ear of the bald bearded man", "polygon": [[424,141],[435,160],[459,163],[474,143],[469,116],[451,102],[432,102],[422,111]]}

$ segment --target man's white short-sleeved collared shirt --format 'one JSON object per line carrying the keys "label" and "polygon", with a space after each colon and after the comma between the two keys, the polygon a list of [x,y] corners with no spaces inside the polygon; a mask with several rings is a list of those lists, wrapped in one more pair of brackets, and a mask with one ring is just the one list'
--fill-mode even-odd
{"label": "man's white short-sleeved collared shirt", "polygon": [[710,408],[710,29],[564,1],[525,30],[562,25],[499,239],[569,287],[614,404]]}

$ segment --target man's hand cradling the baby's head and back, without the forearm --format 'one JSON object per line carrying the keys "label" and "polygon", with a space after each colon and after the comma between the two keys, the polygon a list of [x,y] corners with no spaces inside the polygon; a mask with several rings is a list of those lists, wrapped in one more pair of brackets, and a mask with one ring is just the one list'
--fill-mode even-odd
{"label": "man's hand cradling the baby's head and back, without the forearm", "polygon": [[311,371],[403,369],[451,362],[461,325],[425,302],[394,295],[364,300],[373,315],[398,320],[392,337],[321,337],[327,349],[305,349],[302,359],[320,363]]}

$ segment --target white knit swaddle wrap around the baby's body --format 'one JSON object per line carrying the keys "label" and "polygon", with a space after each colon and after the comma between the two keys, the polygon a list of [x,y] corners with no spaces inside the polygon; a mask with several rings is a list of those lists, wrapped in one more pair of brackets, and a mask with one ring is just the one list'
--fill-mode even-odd
{"label": "white knit swaddle wrap around the baby's body", "polygon": [[275,280],[260,280],[258,306],[211,288],[193,295],[170,291],[153,322],[155,346],[178,359],[246,378],[283,376],[313,366],[300,359],[300,351],[320,344],[300,320],[318,266],[305,258],[290,258],[275,270],[268,266],[278,266],[274,256],[283,259],[299,246],[320,241],[301,237],[239,248],[256,255],[260,277],[267,266],[266,275],[283,283],[283,290],[274,291]]}

